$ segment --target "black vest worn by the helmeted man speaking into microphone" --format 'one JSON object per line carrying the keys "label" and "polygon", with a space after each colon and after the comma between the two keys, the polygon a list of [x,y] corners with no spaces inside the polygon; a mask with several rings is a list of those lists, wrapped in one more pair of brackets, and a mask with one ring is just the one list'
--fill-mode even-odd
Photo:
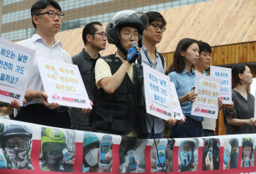
{"label": "black vest worn by the helmeted man speaking into microphone", "polygon": [[[122,63],[115,55],[102,58],[110,66],[112,75],[121,67]],[[132,131],[132,128],[135,128],[139,137],[146,137],[146,118],[143,118],[145,112],[142,111],[144,108],[140,107],[144,101],[139,99],[140,88],[142,88],[140,84],[142,83],[138,82],[138,80],[143,80],[142,66],[134,65],[135,84],[132,84],[126,73],[116,91],[113,94],[108,94],[103,88],[97,89],[95,83],[94,69],[97,59],[91,67],[91,88],[94,95],[92,126],[98,132],[116,135],[127,135]],[[141,75],[142,77],[140,77]]]}

